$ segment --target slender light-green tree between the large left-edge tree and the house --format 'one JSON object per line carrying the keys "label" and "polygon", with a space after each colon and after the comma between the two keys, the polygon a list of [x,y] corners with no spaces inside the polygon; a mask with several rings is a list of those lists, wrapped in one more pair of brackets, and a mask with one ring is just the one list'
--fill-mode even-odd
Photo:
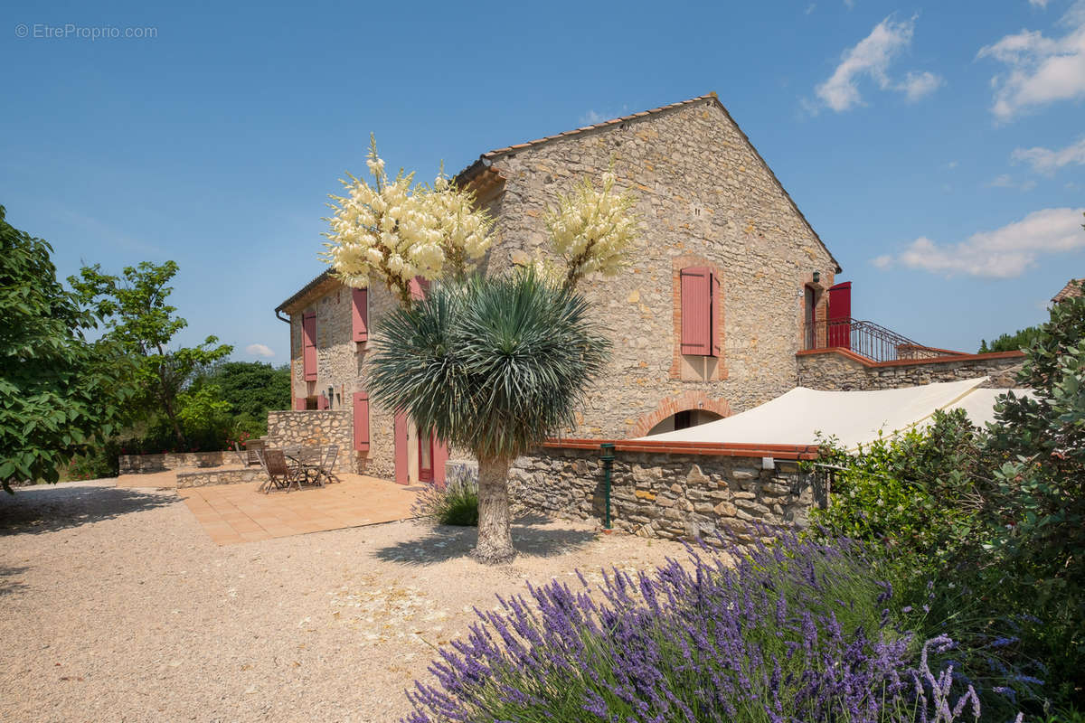
{"label": "slender light-green tree between the large left-edge tree and the house", "polygon": [[101,266],[95,263],[84,267],[79,276],[71,276],[68,283],[103,320],[107,330],[104,338],[136,359],[139,395],[130,406],[132,417],[165,414],[183,448],[186,436],[178,395],[194,372],[229,356],[233,347],[218,345],[217,337],[208,336],[197,347],[168,349],[174,336],[188,326],[184,319],[175,314],[177,308],[166,304],[174,291],[167,284],[176,274],[175,261],[162,264],[142,261],[136,267],[125,267],[123,277],[102,273]]}

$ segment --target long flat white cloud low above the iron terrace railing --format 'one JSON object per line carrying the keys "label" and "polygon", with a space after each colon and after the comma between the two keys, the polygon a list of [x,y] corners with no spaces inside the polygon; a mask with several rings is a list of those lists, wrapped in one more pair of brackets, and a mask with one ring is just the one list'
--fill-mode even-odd
{"label": "long flat white cloud low above the iron terrace railing", "polygon": [[957,244],[939,244],[920,236],[896,256],[879,256],[879,269],[901,264],[946,276],[967,274],[1012,279],[1037,257],[1085,248],[1085,208],[1045,208],[994,231],[980,231]]}

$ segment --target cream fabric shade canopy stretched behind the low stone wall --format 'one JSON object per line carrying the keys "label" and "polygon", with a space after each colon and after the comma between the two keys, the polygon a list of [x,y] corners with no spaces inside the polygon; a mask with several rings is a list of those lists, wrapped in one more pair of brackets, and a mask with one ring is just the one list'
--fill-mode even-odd
{"label": "cream fabric shade canopy stretched behind the low stone wall", "polygon": [[[797,387],[761,406],[707,424],[640,439],[666,442],[817,444],[817,432],[846,450],[927,424],[935,410],[963,409],[972,424],[994,419],[1001,389],[980,389],[987,377],[875,391]],[[1014,389],[1018,393],[1021,390]]]}

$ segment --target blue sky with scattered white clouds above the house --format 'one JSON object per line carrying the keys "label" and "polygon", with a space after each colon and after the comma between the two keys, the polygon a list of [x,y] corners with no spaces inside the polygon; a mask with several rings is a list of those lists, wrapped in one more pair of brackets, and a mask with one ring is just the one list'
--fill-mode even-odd
{"label": "blue sky with scattered white clouds above the house", "polygon": [[0,204],[64,276],[175,259],[235,359],[288,360],[371,131],[427,178],[709,91],[856,317],[972,351],[1085,275],[1085,0],[152,4],[5,3]]}

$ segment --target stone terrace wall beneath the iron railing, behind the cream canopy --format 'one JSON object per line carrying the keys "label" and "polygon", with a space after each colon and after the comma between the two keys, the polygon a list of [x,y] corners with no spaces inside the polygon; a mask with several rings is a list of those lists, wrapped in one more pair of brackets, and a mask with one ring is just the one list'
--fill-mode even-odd
{"label": "stone terrace wall beneath the iron railing, behind the cream canopy", "polygon": [[983,386],[1008,389],[1016,377],[1024,354],[1005,351],[991,354],[969,354],[941,359],[908,359],[872,362],[841,349],[800,351],[799,386],[827,391],[865,389],[899,389],[935,382],[959,382],[990,376]]}

